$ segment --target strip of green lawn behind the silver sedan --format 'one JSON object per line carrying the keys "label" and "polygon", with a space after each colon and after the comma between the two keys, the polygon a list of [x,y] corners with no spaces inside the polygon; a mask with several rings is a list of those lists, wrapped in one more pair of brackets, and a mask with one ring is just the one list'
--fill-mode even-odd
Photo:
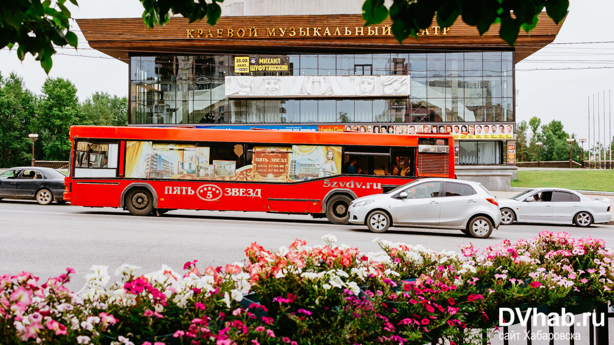
{"label": "strip of green lawn behind the silver sedan", "polygon": [[614,170],[518,170],[511,187],[560,187],[614,192]]}

